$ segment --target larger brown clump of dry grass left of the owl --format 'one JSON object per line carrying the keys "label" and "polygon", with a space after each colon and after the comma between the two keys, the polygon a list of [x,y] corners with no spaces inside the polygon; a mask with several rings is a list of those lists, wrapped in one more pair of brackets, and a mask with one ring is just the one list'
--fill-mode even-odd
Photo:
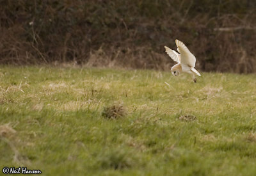
{"label": "larger brown clump of dry grass left of the owl", "polygon": [[121,104],[115,104],[113,106],[104,107],[102,116],[105,118],[119,118],[125,116],[125,108]]}

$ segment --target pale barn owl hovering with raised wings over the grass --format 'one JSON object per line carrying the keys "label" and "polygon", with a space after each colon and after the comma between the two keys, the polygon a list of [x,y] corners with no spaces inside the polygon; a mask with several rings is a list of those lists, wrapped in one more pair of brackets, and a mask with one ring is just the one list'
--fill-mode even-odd
{"label": "pale barn owl hovering with raised wings over the grass", "polygon": [[186,47],[186,45],[179,40],[176,39],[175,44],[177,45],[177,51],[180,54],[164,46],[165,52],[167,52],[173,61],[177,62],[177,64],[173,65],[171,68],[173,76],[178,76],[182,72],[186,72],[193,76],[193,81],[196,83],[196,75],[201,76],[200,73],[194,68],[196,65],[196,57],[189,51],[188,47]]}

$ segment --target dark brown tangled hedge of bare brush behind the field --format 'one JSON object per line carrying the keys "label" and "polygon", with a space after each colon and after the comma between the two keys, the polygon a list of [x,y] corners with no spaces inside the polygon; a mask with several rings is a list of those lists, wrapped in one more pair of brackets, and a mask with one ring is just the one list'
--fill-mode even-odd
{"label": "dark brown tangled hedge of bare brush behind the field", "polygon": [[167,70],[186,44],[204,71],[256,72],[254,0],[1,0],[0,63]]}

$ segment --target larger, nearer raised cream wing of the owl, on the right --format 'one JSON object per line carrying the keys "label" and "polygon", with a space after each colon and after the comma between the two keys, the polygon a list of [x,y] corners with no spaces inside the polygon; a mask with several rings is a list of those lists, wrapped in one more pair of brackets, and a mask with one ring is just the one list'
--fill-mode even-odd
{"label": "larger, nearer raised cream wing of the owl, on the right", "polygon": [[180,52],[180,64],[195,67],[196,57],[189,51],[188,47],[177,39],[175,40],[175,43],[178,47],[178,51]]}

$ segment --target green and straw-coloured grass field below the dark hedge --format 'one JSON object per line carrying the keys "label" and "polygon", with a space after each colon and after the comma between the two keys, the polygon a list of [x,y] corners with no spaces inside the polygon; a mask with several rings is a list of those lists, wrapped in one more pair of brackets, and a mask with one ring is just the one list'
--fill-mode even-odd
{"label": "green and straw-coloured grass field below the dark hedge", "polygon": [[[106,118],[114,105],[118,118]],[[1,66],[0,166],[255,175],[255,105],[255,74],[202,73],[195,84],[152,70]]]}

